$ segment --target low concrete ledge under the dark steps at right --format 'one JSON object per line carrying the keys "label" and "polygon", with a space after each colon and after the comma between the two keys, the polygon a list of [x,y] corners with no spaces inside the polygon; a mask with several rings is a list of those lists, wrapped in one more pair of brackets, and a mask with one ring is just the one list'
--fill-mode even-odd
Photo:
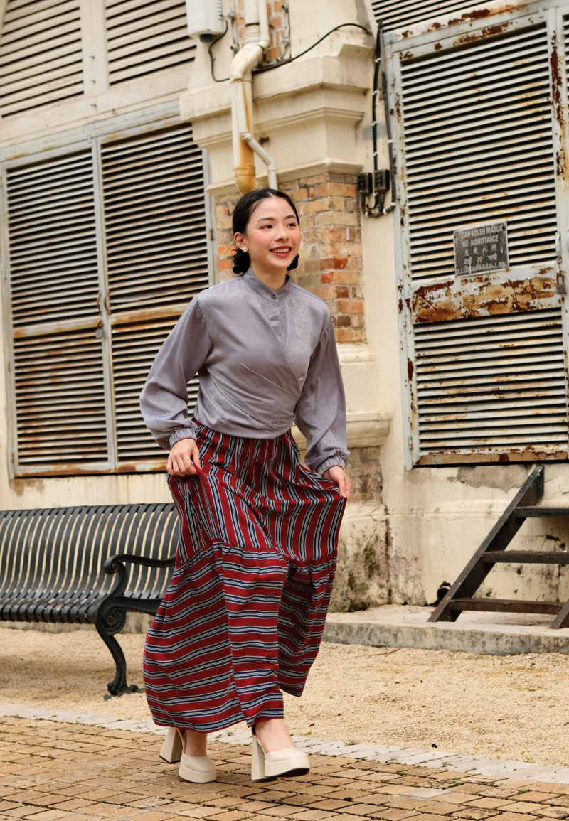
{"label": "low concrete ledge under the dark steps at right", "polygon": [[494,656],[569,654],[569,628],[550,630],[552,617],[466,612],[458,621],[432,624],[427,622],[431,612],[431,608],[392,604],[354,613],[328,613],[324,641]]}

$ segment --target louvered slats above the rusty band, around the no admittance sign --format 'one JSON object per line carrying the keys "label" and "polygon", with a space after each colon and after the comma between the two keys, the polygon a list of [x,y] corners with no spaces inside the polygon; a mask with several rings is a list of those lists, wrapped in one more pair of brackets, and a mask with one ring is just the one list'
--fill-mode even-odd
{"label": "louvered slats above the rusty band, around the no admittance sign", "polygon": [[508,223],[510,265],[555,262],[544,26],[402,63],[411,273],[454,273],[452,231]]}

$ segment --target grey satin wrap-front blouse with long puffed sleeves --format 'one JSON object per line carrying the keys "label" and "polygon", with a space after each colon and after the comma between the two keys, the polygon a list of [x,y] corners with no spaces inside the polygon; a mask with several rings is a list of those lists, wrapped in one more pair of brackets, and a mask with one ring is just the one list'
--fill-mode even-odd
{"label": "grey satin wrap-front blouse with long puffed sleeves", "polygon": [[320,475],[345,467],[346,402],[328,306],[287,278],[272,291],[249,269],[191,300],[167,337],[140,409],[159,445],[195,438],[186,383],[198,374],[194,419],[219,433],[274,439],[295,422]]}

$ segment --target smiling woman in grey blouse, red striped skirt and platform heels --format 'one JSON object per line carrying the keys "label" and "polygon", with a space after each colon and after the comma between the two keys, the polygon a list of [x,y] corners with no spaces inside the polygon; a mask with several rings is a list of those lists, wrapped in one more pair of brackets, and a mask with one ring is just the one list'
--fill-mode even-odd
{"label": "smiling woman in grey blouse, red striped skirt and platform heels", "polygon": [[[195,296],[140,396],[180,517],[172,582],[145,644],[162,756],[215,779],[207,733],[252,727],[253,780],[307,773],[283,718],[319,650],[350,482],[346,410],[328,307],[291,282],[298,213],[255,190],[233,214],[241,276]],[[186,383],[200,375],[194,419]],[[291,438],[308,450],[303,467]],[[183,750],[182,750],[183,744]]]}

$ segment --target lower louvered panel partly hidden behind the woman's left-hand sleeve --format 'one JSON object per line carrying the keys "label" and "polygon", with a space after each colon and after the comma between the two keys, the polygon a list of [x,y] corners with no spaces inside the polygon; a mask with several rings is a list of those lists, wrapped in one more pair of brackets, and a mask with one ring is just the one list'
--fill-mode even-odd
{"label": "lower louvered panel partly hidden behind the woman's left-hand sleeve", "polygon": [[[139,396],[149,370],[176,319],[117,325],[112,330],[112,373],[119,462],[164,458],[140,415]],[[194,410],[198,379],[188,383],[188,414]]]}

